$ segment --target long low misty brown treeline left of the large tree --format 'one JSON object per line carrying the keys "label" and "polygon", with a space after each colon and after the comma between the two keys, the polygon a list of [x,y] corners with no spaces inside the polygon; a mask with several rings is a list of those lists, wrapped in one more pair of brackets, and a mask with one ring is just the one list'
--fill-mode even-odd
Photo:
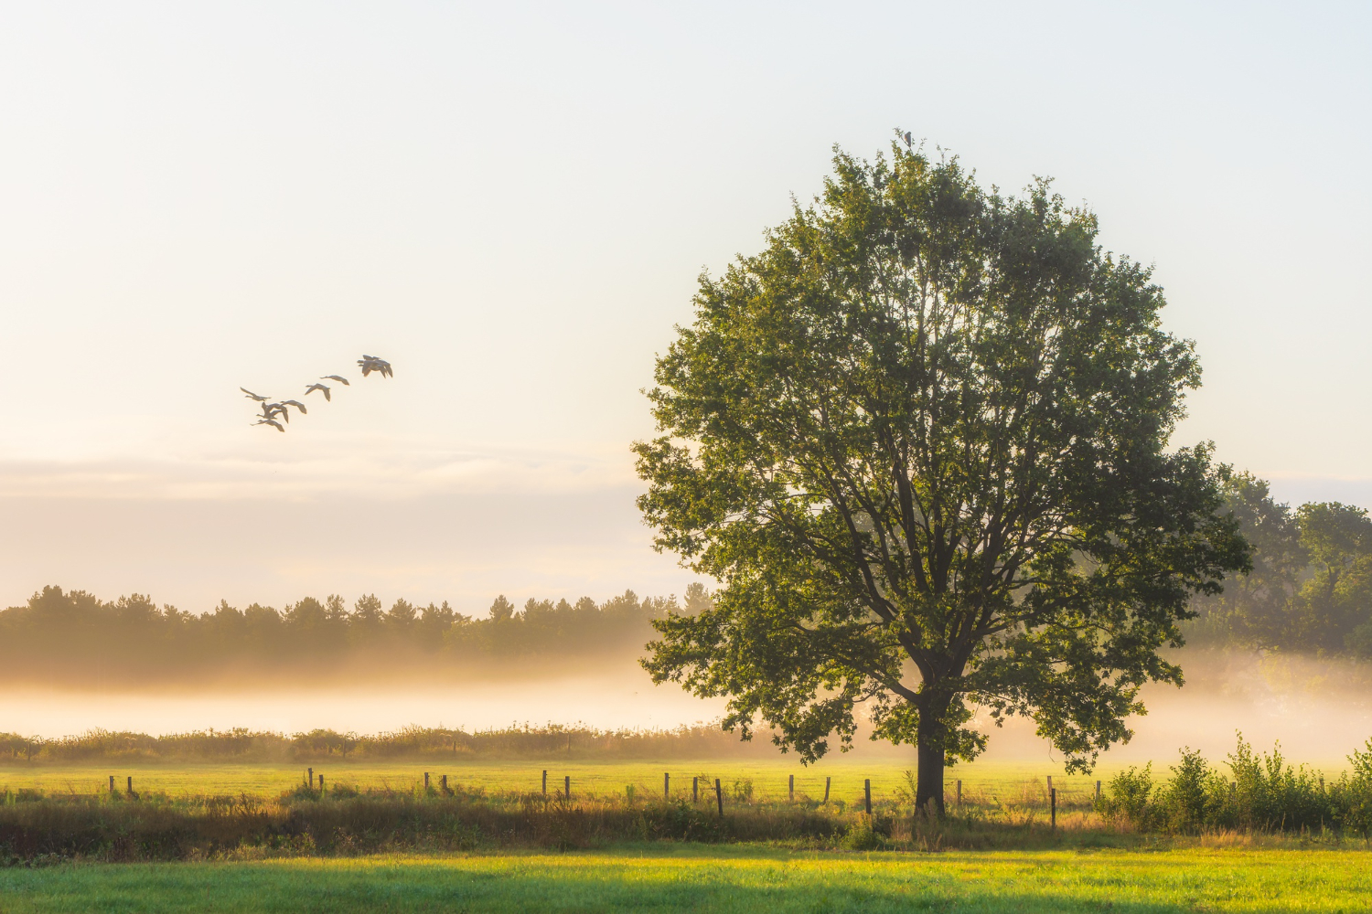
{"label": "long low misty brown treeline left of the large tree", "polygon": [[438,667],[491,670],[510,659],[632,656],[652,639],[650,622],[709,604],[701,584],[675,597],[626,591],[604,603],[530,599],[517,610],[504,595],[487,618],[375,595],[350,608],[340,596],[305,597],[276,610],[220,602],[211,613],[158,607],[134,593],[103,602],[84,591],[45,586],[26,606],[0,611],[0,681],[121,684],[237,677],[351,676]]}

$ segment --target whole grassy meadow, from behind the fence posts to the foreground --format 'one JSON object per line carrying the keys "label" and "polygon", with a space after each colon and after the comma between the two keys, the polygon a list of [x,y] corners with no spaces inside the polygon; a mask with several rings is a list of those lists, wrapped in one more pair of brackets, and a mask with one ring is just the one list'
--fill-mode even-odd
{"label": "whole grassy meadow, from behind the fence posts to the foreground", "polygon": [[[1137,830],[1091,808],[1111,767],[1052,774],[1056,828],[1050,765],[951,769],[948,799],[960,778],[966,810],[940,822],[912,817],[906,766],[889,758],[317,763],[331,791],[362,791],[329,796],[300,788],[305,767],[0,767],[0,844],[5,833],[30,841],[12,845],[8,866],[0,859],[0,914],[1372,911],[1362,835]],[[425,771],[456,791],[423,791]],[[123,796],[130,776],[137,802]],[[571,803],[556,796],[564,776]],[[675,802],[689,799],[691,777],[700,806]],[[704,789],[716,777],[723,819]],[[874,817],[862,813],[867,778]]]}

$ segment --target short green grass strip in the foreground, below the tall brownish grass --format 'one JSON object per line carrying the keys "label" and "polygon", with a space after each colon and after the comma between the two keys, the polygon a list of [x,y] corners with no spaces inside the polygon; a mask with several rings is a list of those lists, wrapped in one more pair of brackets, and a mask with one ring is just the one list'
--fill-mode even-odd
{"label": "short green grass strip in the foreground, below the tall brownish grass", "polygon": [[1364,851],[613,852],[0,870],[0,911],[1368,911]]}

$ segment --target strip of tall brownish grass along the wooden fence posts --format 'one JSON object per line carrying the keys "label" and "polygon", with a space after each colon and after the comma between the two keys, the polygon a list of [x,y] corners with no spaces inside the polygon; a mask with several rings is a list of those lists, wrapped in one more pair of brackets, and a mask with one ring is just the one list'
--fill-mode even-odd
{"label": "strip of tall brownish grass along the wooden fence posts", "polygon": [[967,813],[929,819],[899,803],[873,815],[844,803],[760,802],[738,789],[719,815],[713,796],[565,799],[453,785],[394,791],[300,785],[266,800],[250,795],[0,795],[0,866],[67,859],[252,859],[391,851],[587,848],[616,843],[770,841],[796,848],[1052,847],[1132,844],[1129,835],[1051,829],[1043,818]]}

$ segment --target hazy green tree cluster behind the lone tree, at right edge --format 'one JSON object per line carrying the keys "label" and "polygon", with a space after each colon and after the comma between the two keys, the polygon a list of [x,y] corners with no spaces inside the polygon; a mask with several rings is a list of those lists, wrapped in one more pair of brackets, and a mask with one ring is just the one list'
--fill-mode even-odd
{"label": "hazy green tree cluster behind the lone tree, at right edge", "polygon": [[1364,508],[1272,499],[1250,473],[1224,484],[1253,571],[1192,600],[1194,644],[1372,659],[1372,519]]}

